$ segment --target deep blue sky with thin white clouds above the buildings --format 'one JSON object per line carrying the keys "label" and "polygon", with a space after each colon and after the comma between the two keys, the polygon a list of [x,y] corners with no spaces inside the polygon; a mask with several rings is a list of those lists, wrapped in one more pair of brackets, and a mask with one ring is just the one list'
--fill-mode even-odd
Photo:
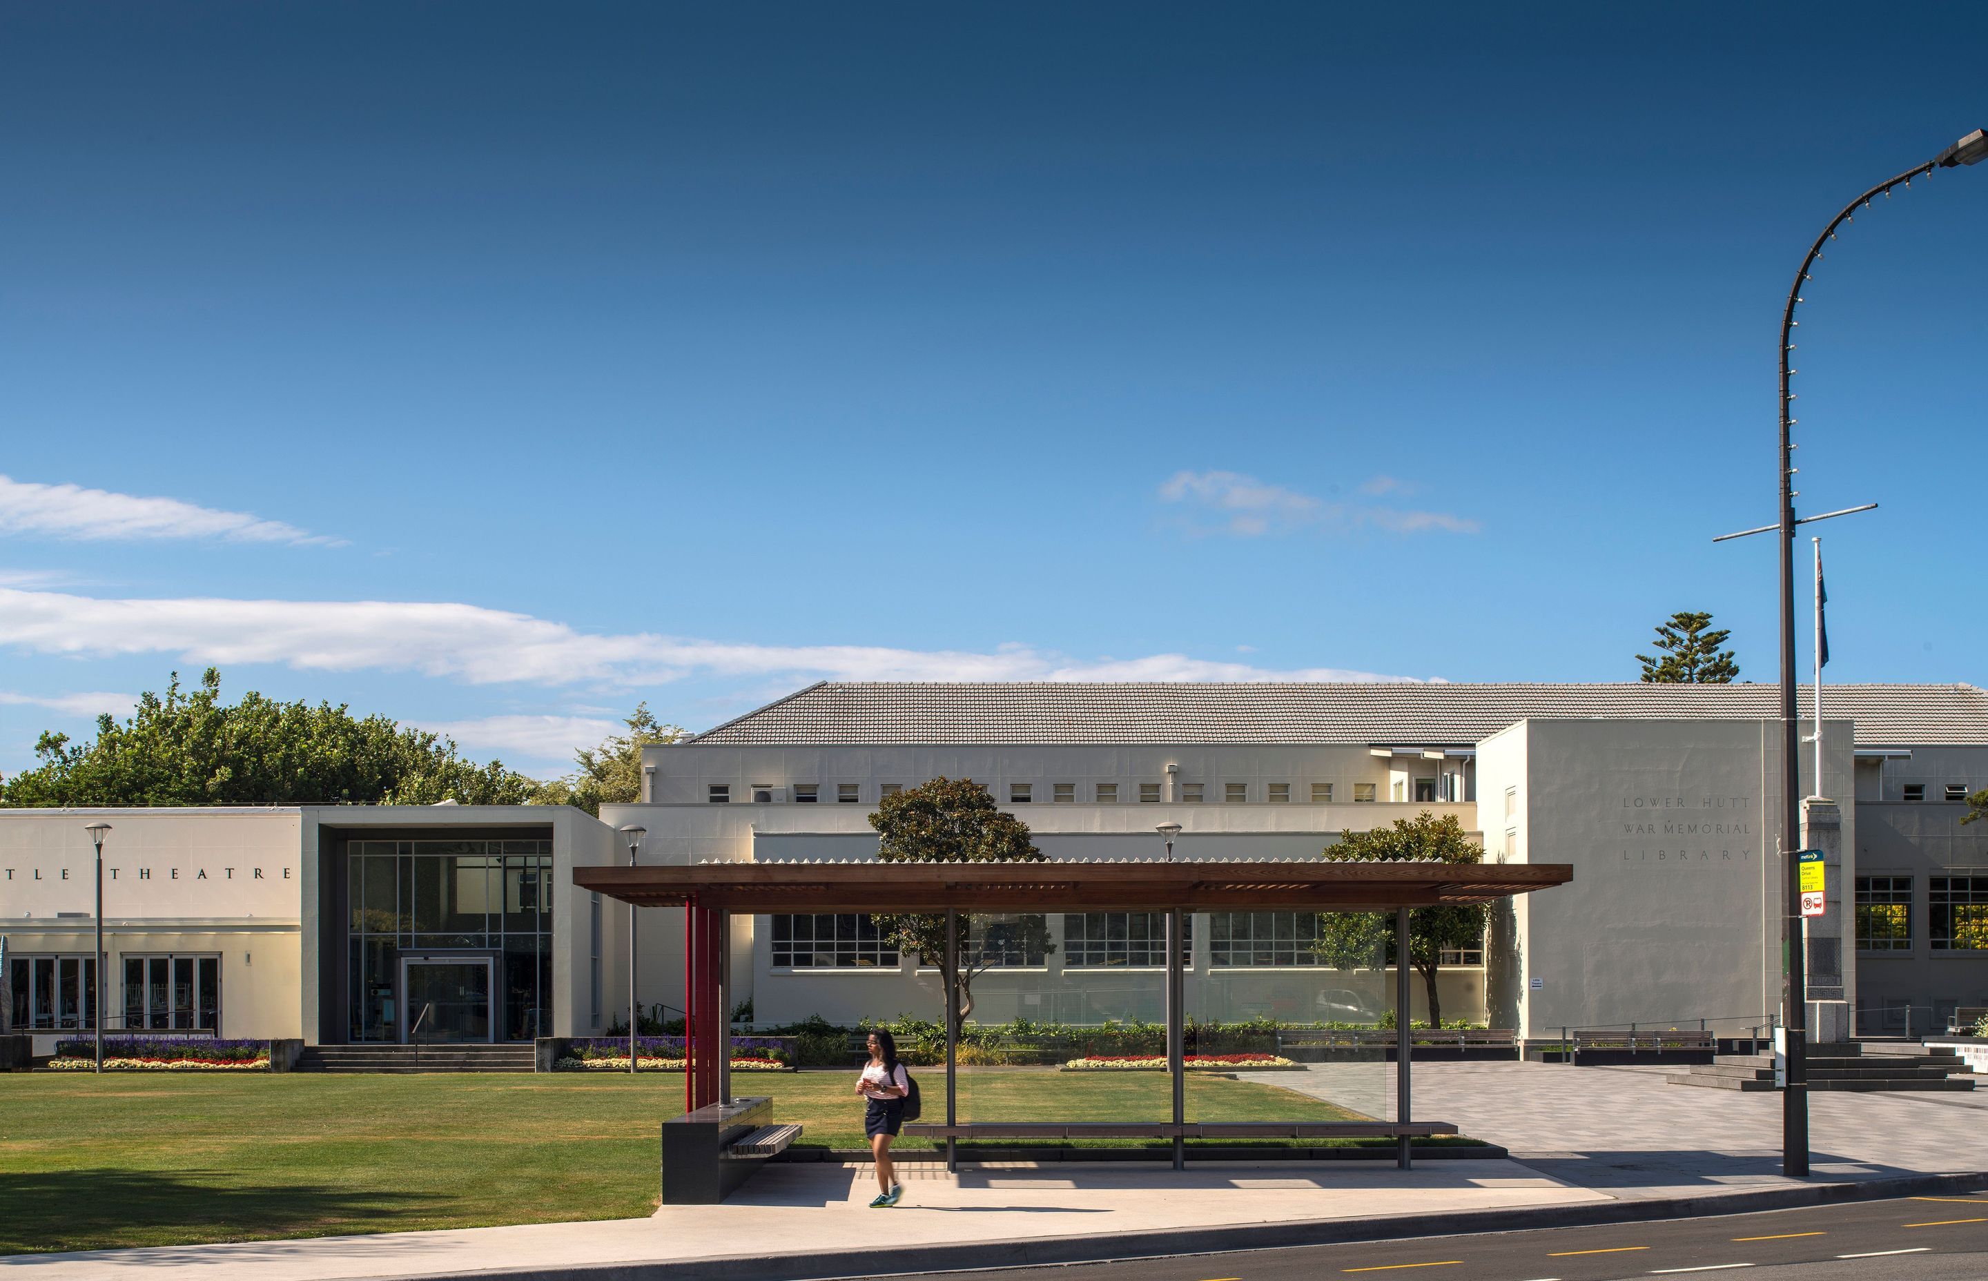
{"label": "deep blue sky with thin white clouds above the buildings", "polygon": [[[8,6],[0,772],[213,662],[549,774],[831,678],[1775,676],[1809,237],[1978,6]],[[1797,334],[1829,676],[1988,682],[1988,165]],[[1807,543],[1803,543],[1803,551]],[[1803,652],[1807,644],[1803,642]],[[1805,658],[1803,658],[1805,660]]]}

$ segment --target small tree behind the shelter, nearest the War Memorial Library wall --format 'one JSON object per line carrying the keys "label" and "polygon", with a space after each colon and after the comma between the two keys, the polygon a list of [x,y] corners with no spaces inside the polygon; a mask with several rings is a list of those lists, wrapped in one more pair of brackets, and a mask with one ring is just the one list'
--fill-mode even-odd
{"label": "small tree behind the shelter, nearest the War Memorial Library wall", "polygon": [[[1453,814],[1435,818],[1427,810],[1415,820],[1398,818],[1392,827],[1348,831],[1324,857],[1358,863],[1437,861],[1483,863],[1485,847],[1463,833]],[[1489,911],[1483,903],[1417,907],[1408,913],[1408,961],[1429,993],[1429,1026],[1441,1026],[1443,1003],[1435,973],[1443,949],[1483,947]],[[1394,955],[1394,915],[1374,911],[1328,911],[1318,919],[1318,957],[1334,969],[1386,969]]]}

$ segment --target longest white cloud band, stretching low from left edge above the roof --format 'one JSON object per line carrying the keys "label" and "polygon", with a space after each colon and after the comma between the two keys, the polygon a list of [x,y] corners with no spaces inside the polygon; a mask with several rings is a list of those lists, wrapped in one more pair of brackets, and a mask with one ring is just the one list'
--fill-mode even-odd
{"label": "longest white cloud band, stretching low from left edge above the roof", "polygon": [[469,684],[662,684],[700,676],[831,680],[1404,680],[1342,668],[1270,670],[1187,654],[1076,660],[1026,644],[907,650],[738,644],[656,633],[588,635],[459,603],[97,599],[0,589],[0,644],[40,654],[175,654],[310,670],[415,670]]}

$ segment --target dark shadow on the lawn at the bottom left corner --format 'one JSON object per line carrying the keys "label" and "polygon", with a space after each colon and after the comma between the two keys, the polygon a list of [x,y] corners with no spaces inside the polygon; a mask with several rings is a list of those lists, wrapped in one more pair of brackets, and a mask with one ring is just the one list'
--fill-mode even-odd
{"label": "dark shadow on the lawn at the bottom left corner", "polygon": [[225,1170],[0,1172],[0,1253],[394,1231],[439,1197],[310,1184],[241,1186]]}

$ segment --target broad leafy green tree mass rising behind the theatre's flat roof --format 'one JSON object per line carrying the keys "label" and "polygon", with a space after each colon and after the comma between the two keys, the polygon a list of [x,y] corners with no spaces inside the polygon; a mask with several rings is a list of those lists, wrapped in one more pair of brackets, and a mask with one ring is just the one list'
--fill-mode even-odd
{"label": "broad leafy green tree mass rising behind the theatre's flat roof", "polygon": [[44,732],[40,766],[0,782],[6,806],[266,806],[521,804],[541,784],[503,762],[463,760],[455,742],[404,730],[386,716],[356,718],[344,704],[278,702],[250,690],[221,702],[221,672],[165,696],[145,692],[129,720],[97,718],[97,736],[72,744]]}

